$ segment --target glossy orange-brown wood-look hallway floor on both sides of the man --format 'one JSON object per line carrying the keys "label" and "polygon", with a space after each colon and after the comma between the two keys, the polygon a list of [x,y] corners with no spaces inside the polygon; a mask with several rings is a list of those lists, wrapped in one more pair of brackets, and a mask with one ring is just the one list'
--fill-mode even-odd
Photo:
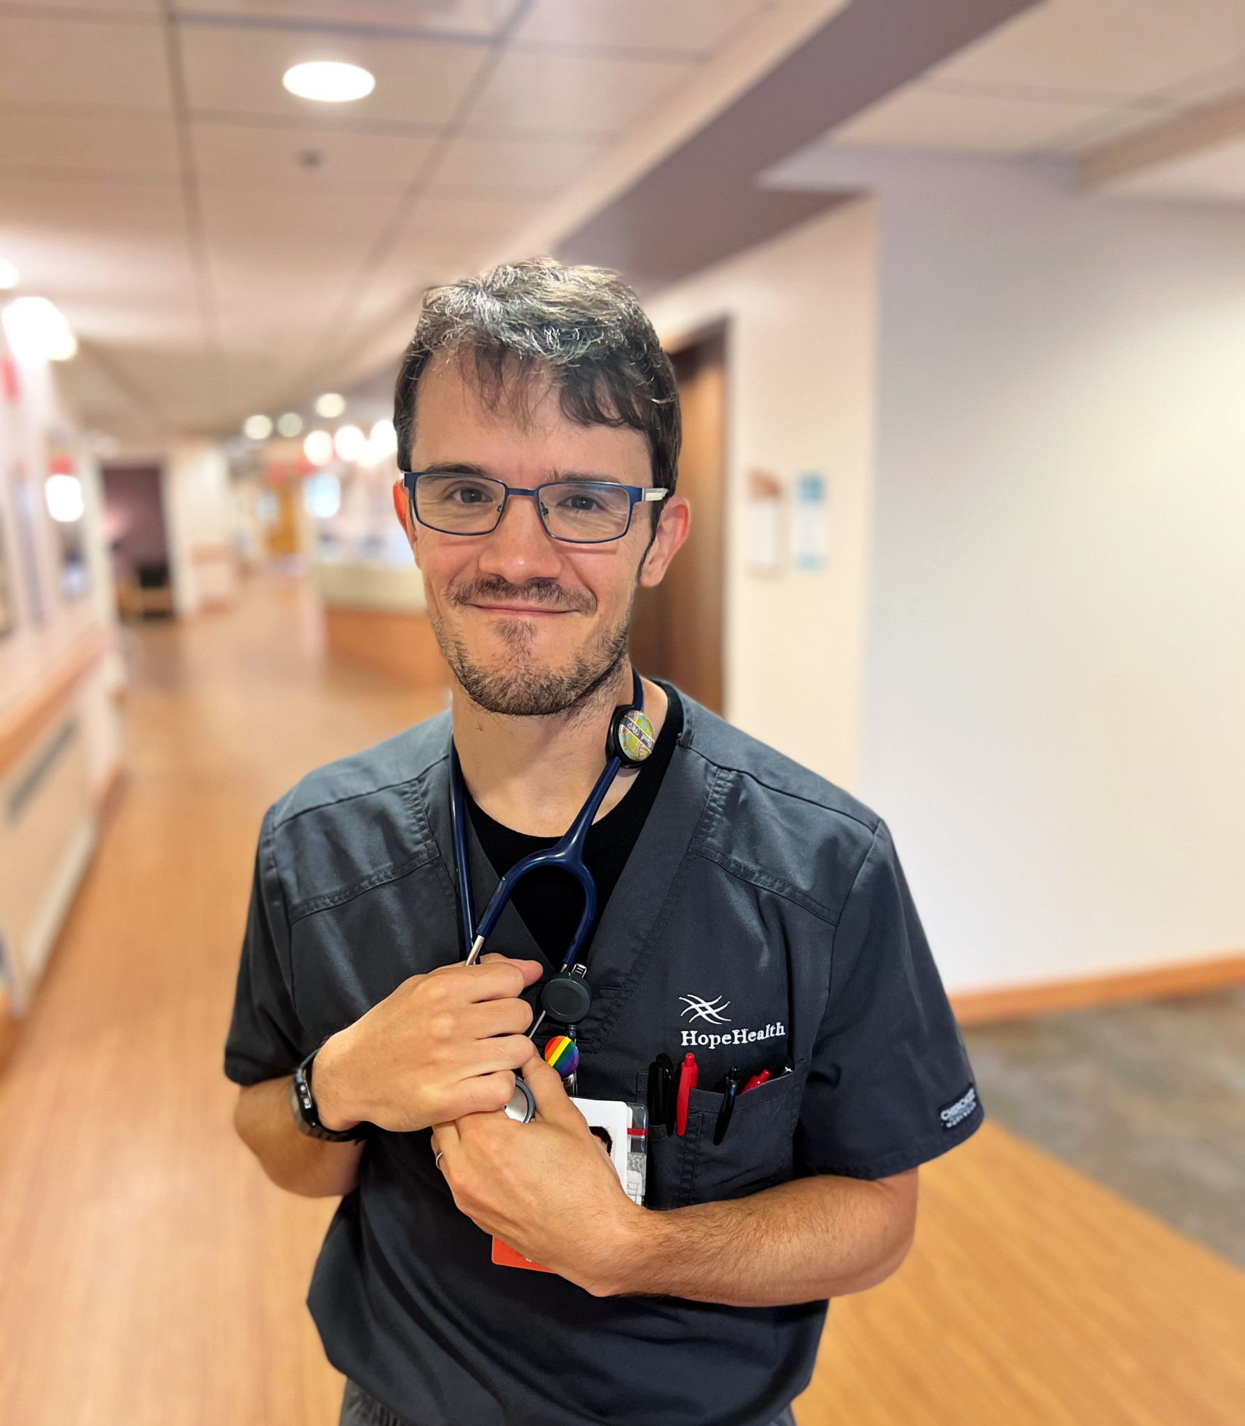
{"label": "glossy orange-brown wood-look hallway floor on both sides of the man", "polygon": [[[137,637],[128,783],[0,1075],[0,1423],[331,1426],[302,1306],[331,1205],[234,1141],[221,1041],[262,809],[439,700],[324,672],[295,586]],[[1245,1275],[987,1127],[797,1415],[1239,1426]]]}

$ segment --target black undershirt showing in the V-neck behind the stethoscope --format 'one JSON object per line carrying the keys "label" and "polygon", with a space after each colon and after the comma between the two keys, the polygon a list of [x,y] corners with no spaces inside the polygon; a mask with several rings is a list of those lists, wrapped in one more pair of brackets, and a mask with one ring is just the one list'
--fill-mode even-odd
{"label": "black undershirt showing in the V-neck behind the stethoscope", "polygon": [[[683,704],[679,702],[679,694],[666,683],[662,687],[666,690],[670,706],[666,710],[662,732],[657,734],[653,756],[636,773],[633,786],[618,807],[613,807],[588,830],[583,864],[596,880],[596,921],[589,931],[589,945],[592,945],[592,937],[600,924],[610,893],[618,886],[627,857],[639,841],[645,821],[657,799],[662,777],[665,777],[670,759],[675,756],[675,743],[683,730]],[[499,877],[505,876],[516,861],[529,853],[553,847],[562,840],[560,837],[529,837],[526,833],[503,827],[479,807],[471,791],[466,794],[466,806],[479,844]],[[575,935],[575,928],[579,925],[579,917],[583,914],[583,890],[579,883],[565,871],[552,868],[533,871],[518,884],[511,901],[545,958],[553,965],[560,965]]]}

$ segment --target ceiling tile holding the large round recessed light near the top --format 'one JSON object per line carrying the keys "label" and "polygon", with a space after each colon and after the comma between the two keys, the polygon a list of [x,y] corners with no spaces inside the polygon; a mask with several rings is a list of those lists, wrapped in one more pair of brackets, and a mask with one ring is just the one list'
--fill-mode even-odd
{"label": "ceiling tile holding the large round recessed light near the top", "polygon": [[[234,30],[184,26],[187,90],[193,110],[217,114],[284,114],[324,123],[348,110],[349,120],[442,124],[488,53],[481,46],[369,40],[324,31]],[[302,60],[347,60],[376,77],[354,104],[318,104],[281,87]]]}

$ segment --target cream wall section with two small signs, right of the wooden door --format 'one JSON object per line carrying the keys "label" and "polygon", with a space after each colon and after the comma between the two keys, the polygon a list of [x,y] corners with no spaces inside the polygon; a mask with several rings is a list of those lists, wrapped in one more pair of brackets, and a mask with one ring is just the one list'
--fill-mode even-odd
{"label": "cream wall section with two small signs, right of the wooden door", "polygon": [[[836,208],[646,302],[663,341],[726,318],[727,717],[853,787],[874,406],[876,232],[869,201]],[[830,488],[820,570],[749,568],[747,475]],[[695,519],[695,512],[693,512]]]}

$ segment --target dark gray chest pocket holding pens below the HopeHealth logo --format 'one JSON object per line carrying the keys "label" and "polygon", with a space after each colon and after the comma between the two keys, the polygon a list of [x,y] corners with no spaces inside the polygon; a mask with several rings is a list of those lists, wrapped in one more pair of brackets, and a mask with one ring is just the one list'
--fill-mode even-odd
{"label": "dark gray chest pocket holding pens below the HopeHealth logo", "polygon": [[693,1089],[687,1132],[649,1128],[647,1208],[686,1208],[746,1198],[794,1176],[791,1138],[800,1097],[799,1072],[770,1079],[734,1101],[722,1144],[713,1142],[723,1095]]}

